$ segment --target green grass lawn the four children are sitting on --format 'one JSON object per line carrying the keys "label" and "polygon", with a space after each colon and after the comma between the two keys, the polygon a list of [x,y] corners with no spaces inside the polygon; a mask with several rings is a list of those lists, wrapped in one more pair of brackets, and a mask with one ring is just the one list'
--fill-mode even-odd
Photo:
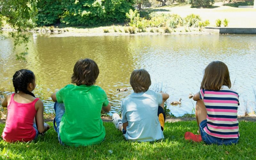
{"label": "green grass lawn the four children are sitting on", "polygon": [[[51,123],[52,125],[52,123]],[[0,159],[256,159],[256,122],[239,122],[241,138],[237,145],[217,146],[194,143],[184,133],[196,133],[195,121],[166,123],[165,140],[128,142],[111,122],[103,123],[106,140],[89,147],[60,146],[51,128],[44,137],[31,143],[0,141]],[[0,124],[1,133],[4,124]]]}

